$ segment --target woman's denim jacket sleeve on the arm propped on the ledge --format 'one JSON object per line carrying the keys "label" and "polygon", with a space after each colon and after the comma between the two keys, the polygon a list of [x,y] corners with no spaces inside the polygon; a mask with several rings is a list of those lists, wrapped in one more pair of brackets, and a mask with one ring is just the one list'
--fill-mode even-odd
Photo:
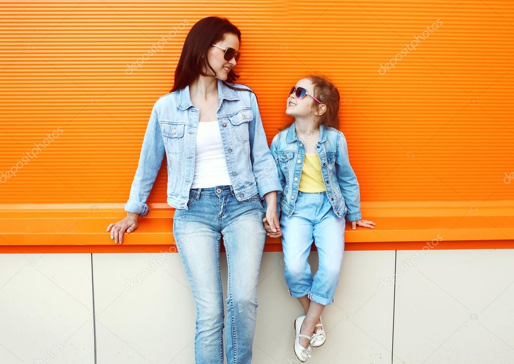
{"label": "woman's denim jacket sleeve on the arm propped on the ledge", "polygon": [[139,216],[148,214],[149,207],[146,200],[157,178],[163,157],[164,142],[154,104],[144,133],[136,174],[124,206],[126,212],[139,214]]}

